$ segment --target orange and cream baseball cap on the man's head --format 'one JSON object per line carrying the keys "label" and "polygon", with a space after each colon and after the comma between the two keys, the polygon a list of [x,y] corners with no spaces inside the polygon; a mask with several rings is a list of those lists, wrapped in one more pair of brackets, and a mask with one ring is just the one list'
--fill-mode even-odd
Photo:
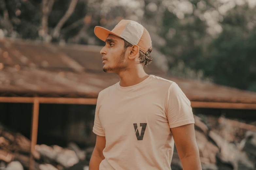
{"label": "orange and cream baseball cap on the man's head", "polygon": [[102,41],[106,41],[109,34],[116,35],[125,39],[131,45],[137,45],[146,55],[149,54],[148,49],[152,46],[148,31],[136,21],[121,20],[112,31],[96,26],[94,34]]}

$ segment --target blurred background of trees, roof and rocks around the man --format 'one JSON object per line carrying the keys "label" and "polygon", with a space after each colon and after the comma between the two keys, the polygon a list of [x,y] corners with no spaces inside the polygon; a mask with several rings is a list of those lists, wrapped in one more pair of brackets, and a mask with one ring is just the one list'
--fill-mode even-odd
{"label": "blurred background of trees, roof and rocks around the man", "polygon": [[256,0],[0,0],[0,169],[88,169],[98,93],[119,81],[94,27],[122,19],[150,33],[146,73],[190,99],[203,170],[255,170]]}

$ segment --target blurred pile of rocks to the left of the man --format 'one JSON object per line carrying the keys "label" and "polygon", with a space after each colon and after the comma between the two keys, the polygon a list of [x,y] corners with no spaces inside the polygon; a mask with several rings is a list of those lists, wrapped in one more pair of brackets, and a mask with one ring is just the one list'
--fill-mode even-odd
{"label": "blurred pile of rocks to the left of the man", "polygon": [[[25,136],[0,128],[0,170],[28,170],[30,146]],[[68,148],[36,145],[31,170],[87,170],[90,152],[91,148],[81,150],[75,143]]]}

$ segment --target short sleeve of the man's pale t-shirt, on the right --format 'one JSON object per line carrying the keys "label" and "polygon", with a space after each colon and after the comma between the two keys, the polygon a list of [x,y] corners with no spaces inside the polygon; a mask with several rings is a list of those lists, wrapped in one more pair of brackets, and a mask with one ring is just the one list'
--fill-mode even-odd
{"label": "short sleeve of the man's pale t-shirt, on the right", "polygon": [[177,83],[172,82],[165,101],[170,128],[195,123],[191,103]]}

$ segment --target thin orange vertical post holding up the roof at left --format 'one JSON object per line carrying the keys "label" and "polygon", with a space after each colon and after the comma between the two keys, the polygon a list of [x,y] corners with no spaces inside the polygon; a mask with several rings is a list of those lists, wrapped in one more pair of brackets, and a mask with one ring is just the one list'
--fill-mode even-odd
{"label": "thin orange vertical post holding up the roof at left", "polygon": [[33,104],[32,123],[31,123],[31,149],[30,149],[31,153],[30,153],[29,170],[35,169],[33,152],[35,150],[35,145],[37,143],[38,117],[39,117],[39,100],[35,98],[34,104]]}

